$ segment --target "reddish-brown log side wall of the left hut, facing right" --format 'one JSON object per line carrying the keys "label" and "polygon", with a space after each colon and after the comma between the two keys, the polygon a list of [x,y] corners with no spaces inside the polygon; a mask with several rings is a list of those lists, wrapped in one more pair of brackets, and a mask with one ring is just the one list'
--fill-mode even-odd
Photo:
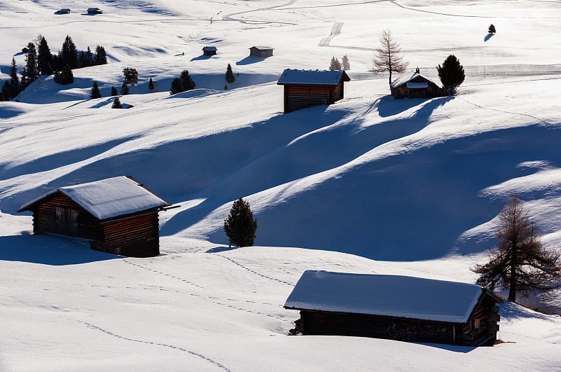
{"label": "reddish-brown log side wall of the left hut, facing right", "polygon": [[121,256],[158,256],[158,212],[102,223],[102,238],[93,248]]}

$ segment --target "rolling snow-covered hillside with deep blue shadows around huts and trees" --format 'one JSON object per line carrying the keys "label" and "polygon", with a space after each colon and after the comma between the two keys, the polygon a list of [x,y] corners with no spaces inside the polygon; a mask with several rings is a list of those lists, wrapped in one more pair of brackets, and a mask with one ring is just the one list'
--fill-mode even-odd
{"label": "rolling snow-covered hillside with deep blue shadows around huts and trees", "polygon": [[[438,81],[435,66],[456,55],[459,95],[388,97],[388,76],[367,73],[384,29],[407,74]],[[0,102],[0,371],[560,369],[561,318],[518,305],[501,308],[506,343],[478,349],[287,336],[298,314],[283,310],[304,270],[473,283],[512,191],[546,247],[561,247],[559,1],[6,0],[0,30],[2,83],[37,34],[53,53],[69,35],[109,60]],[[273,57],[248,57],[263,45]],[[283,69],[343,55],[345,99],[282,113]],[[227,64],[236,82],[224,90]],[[139,72],[121,98],[134,107],[114,110],[124,67]],[[197,88],[170,96],[183,69]],[[89,99],[94,81],[101,99]],[[31,235],[32,217],[16,213],[124,174],[180,205],[160,214],[161,256]],[[228,249],[223,220],[240,196],[256,247]]]}

